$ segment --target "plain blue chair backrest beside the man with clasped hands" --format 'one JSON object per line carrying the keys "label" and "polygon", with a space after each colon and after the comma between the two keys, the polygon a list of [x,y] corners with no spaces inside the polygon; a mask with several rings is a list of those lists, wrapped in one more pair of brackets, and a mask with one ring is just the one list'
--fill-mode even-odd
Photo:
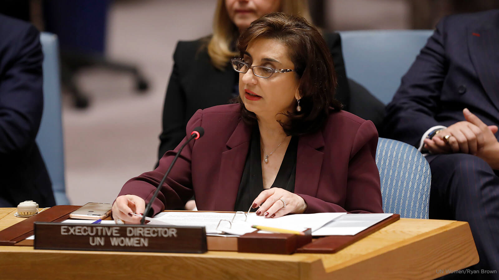
{"label": "plain blue chair backrest beside the man with clasped hands", "polygon": [[341,45],[348,78],[366,87],[385,105],[433,30],[342,31]]}

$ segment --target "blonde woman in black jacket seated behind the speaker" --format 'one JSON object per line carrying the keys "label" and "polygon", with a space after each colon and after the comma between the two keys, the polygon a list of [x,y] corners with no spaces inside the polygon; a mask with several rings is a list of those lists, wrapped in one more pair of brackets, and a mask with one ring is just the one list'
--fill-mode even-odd
{"label": "blonde woman in black jacket seated behind the speaker", "polygon": [[[213,34],[194,41],[179,41],[163,107],[163,131],[158,159],[173,150],[186,136],[189,119],[198,109],[227,104],[239,95],[238,73],[230,59],[238,52],[236,40],[250,23],[274,11],[303,16],[310,20],[306,0],[219,0]],[[331,52],[337,76],[336,99],[349,111],[349,88],[338,33],[323,34]],[[194,201],[186,208],[193,209]]]}

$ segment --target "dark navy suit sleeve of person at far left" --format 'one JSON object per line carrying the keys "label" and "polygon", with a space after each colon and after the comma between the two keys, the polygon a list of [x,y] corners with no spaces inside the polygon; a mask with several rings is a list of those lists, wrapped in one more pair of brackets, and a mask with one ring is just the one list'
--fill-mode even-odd
{"label": "dark navy suit sleeve of person at far left", "polygon": [[[26,28],[0,49],[0,156],[33,144],[43,110],[43,76],[39,32]],[[5,62],[5,63],[4,63]]]}

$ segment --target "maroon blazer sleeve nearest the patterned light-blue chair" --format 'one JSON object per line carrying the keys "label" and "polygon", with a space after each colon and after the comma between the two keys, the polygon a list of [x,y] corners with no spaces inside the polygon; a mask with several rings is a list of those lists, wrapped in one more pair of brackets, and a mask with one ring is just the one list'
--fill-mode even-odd
{"label": "maroon blazer sleeve nearest the patterned light-blue chair", "polygon": [[[322,199],[299,194],[307,203],[305,213],[349,212],[383,213],[381,183],[376,166],[378,132],[371,121],[363,122],[354,137],[348,162],[344,207]],[[331,185],[331,192],[337,186]]]}

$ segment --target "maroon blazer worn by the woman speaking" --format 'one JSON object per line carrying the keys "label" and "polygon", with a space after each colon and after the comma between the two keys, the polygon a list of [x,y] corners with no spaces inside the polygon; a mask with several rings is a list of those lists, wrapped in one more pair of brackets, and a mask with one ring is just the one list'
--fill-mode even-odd
{"label": "maroon blazer worn by the woman speaking", "polygon": [[[187,134],[198,126],[205,135],[182,150],[153,203],[154,213],[183,207],[193,191],[198,210],[234,211],[251,127],[241,120],[239,104],[198,110]],[[126,182],[119,195],[149,201],[186,139],[165,153],[158,168]],[[305,213],[382,213],[377,143],[373,123],[345,111],[329,115],[321,131],[300,136],[294,192],[307,203]]]}

